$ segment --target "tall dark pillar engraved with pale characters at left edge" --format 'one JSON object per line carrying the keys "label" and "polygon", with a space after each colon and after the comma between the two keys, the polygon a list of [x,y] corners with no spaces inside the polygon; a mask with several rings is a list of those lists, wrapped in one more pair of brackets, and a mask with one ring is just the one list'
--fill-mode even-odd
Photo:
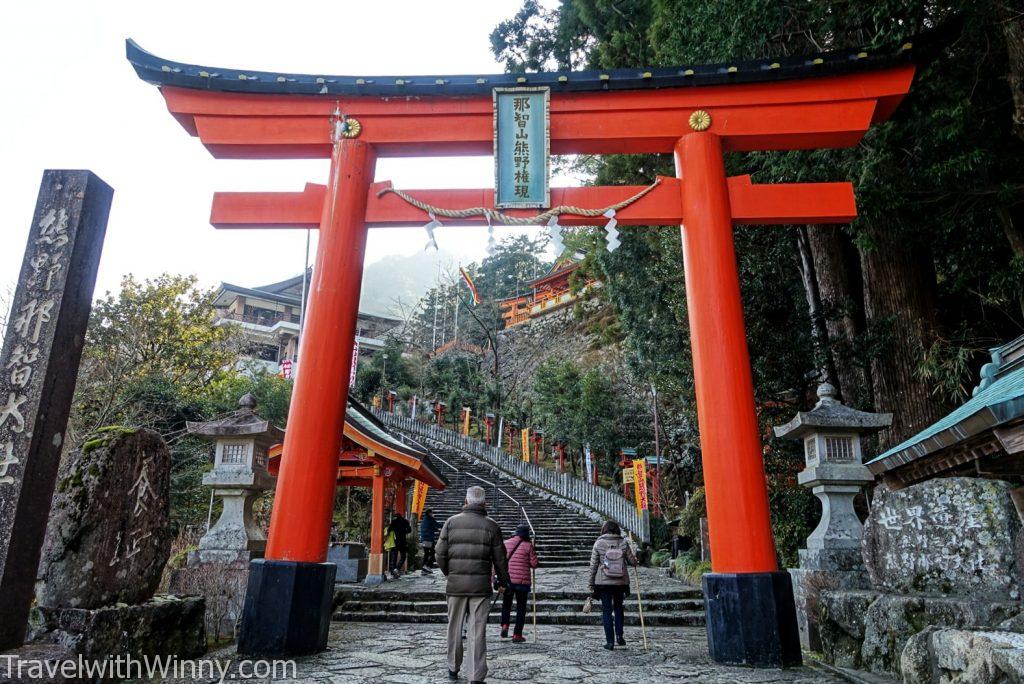
{"label": "tall dark pillar engraved with pale characters at left edge", "polygon": [[0,650],[25,637],[113,194],[43,173],[0,352]]}

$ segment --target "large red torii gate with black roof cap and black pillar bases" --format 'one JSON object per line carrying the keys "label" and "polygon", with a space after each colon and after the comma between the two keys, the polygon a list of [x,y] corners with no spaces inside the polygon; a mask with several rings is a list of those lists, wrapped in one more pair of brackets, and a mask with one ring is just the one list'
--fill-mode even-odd
{"label": "large red torii gate with black roof cap and black pillar bases", "polygon": [[[650,71],[499,76],[304,76],[161,59],[129,41],[139,76],[215,157],[330,158],[326,185],[300,193],[218,193],[218,227],[318,227],[306,329],[266,560],[253,564],[240,652],[323,649],[325,559],[348,390],[367,229],[418,224],[424,213],[374,182],[379,157],[490,155],[492,88],[550,88],[550,152],[673,153],[676,178],[615,216],[622,225],[682,225],[714,572],[705,578],[712,656],[722,662],[800,661],[788,575],[778,572],[743,327],[732,225],[841,223],[855,215],[850,183],[759,185],[727,177],[723,154],[856,144],[907,92],[910,44],[893,53]],[[343,114],[342,114],[343,113]],[[551,204],[605,207],[639,187],[553,188]],[[493,207],[494,190],[408,190],[430,205]],[[536,215],[508,210],[509,216]],[[482,225],[482,217],[445,219]],[[564,225],[601,219],[562,215]],[[332,578],[333,579],[333,578]],[[322,594],[295,591],[318,583]],[[260,601],[258,587],[292,590]],[[254,589],[254,587],[256,587]],[[319,604],[316,602],[319,601]],[[286,614],[282,616],[282,611]],[[314,633],[315,632],[315,633]]]}

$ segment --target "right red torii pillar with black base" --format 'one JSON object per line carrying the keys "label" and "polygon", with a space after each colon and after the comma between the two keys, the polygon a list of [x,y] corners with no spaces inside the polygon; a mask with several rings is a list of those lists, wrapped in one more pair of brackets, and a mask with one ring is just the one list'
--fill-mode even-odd
{"label": "right red torii pillar with black base", "polygon": [[715,570],[701,583],[708,647],[718,662],[799,666],[793,585],[775,561],[722,140],[684,135],[675,158]]}

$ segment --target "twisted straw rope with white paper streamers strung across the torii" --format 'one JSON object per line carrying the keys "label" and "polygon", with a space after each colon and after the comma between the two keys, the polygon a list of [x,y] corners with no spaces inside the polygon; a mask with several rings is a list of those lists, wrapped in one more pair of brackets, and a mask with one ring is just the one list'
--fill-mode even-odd
{"label": "twisted straw rope with white paper streamers strung across the torii", "polygon": [[536,216],[524,216],[516,217],[504,214],[497,209],[492,209],[490,207],[468,207],[466,209],[445,209],[443,207],[434,207],[427,204],[426,202],[421,202],[408,193],[403,193],[399,189],[393,187],[383,187],[377,191],[377,197],[382,197],[388,193],[393,193],[399,198],[416,207],[420,211],[426,212],[427,216],[430,217],[430,221],[427,222],[423,227],[427,231],[427,246],[425,249],[430,249],[433,247],[437,249],[437,240],[434,238],[434,228],[441,227],[441,222],[437,220],[438,216],[443,216],[444,218],[468,218],[470,216],[483,216],[487,221],[487,253],[494,254],[496,247],[495,242],[495,227],[494,222],[503,223],[505,225],[543,225],[547,223],[549,230],[551,231],[552,244],[555,246],[556,251],[561,251],[564,248],[562,243],[562,228],[558,225],[558,217],[562,214],[572,214],[574,216],[603,216],[608,219],[608,222],[604,224],[605,230],[607,230],[607,245],[608,251],[613,252],[618,248],[618,230],[615,229],[615,225],[618,223],[615,220],[615,212],[620,209],[629,207],[631,204],[640,200],[642,197],[650,193],[652,189],[657,187],[658,183],[662,182],[660,178],[657,178],[650,185],[647,185],[642,190],[634,195],[633,197],[627,198],[622,202],[616,202],[613,205],[604,207],[603,209],[586,209],[584,207],[573,207],[571,205],[559,205],[557,207],[552,207],[551,209],[537,214]]}

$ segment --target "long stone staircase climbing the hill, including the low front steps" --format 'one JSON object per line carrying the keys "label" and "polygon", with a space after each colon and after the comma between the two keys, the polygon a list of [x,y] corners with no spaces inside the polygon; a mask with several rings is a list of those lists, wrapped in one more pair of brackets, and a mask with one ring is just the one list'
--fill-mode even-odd
{"label": "long stone staircase climbing the hill, including the low front steps", "polygon": [[[392,426],[394,429],[395,426]],[[401,430],[398,430],[402,432]],[[524,482],[517,482],[467,452],[444,442],[407,432],[406,437],[430,450],[449,479],[443,491],[431,490],[426,508],[443,522],[462,510],[466,488],[474,484],[487,493],[487,513],[502,527],[505,539],[516,525],[528,518],[537,543],[540,567],[537,573],[537,622],[540,625],[600,625],[600,605],[582,611],[589,596],[590,551],[600,533],[601,523],[562,505]],[[640,568],[643,586],[644,619],[648,626],[702,626],[703,599],[700,590],[664,574],[665,570]],[[631,580],[631,585],[633,584]],[[634,585],[635,588],[635,585]],[[361,623],[447,622],[444,578],[439,571],[429,576],[412,571],[398,581],[375,588],[341,587],[335,595],[334,619]],[[532,606],[527,623],[532,621]],[[489,622],[500,622],[501,601],[496,601]],[[627,600],[626,623],[639,625],[635,595]]]}

